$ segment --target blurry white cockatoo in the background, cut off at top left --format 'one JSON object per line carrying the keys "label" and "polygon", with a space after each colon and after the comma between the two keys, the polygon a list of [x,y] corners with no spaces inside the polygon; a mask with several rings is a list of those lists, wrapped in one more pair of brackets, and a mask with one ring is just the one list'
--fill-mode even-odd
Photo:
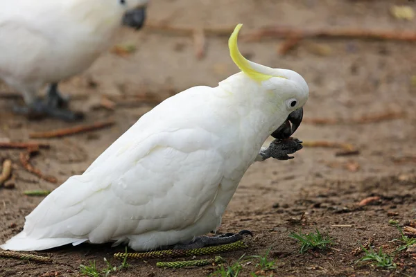
{"label": "blurry white cockatoo in the background, cut off at top left", "polygon": [[[119,26],[141,28],[148,0],[12,0],[0,5],[0,79],[24,96],[28,116],[76,120],[58,82],[85,71]],[[38,91],[49,84],[46,102]]]}

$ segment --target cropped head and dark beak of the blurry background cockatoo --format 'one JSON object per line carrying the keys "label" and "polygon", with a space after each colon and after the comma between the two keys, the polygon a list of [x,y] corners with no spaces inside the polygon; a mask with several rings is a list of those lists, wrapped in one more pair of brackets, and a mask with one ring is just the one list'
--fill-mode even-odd
{"label": "cropped head and dark beak of the blurry background cockatoo", "polygon": [[112,0],[118,1],[120,8],[124,10],[123,25],[139,29],[146,20],[146,5],[148,0]]}

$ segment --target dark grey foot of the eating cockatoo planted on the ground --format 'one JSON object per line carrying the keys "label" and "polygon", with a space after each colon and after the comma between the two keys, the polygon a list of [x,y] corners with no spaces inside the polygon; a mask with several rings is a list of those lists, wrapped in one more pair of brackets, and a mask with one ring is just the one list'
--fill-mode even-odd
{"label": "dark grey foot of the eating cockatoo planted on the ground", "polygon": [[201,235],[196,237],[193,242],[189,244],[176,244],[173,249],[196,249],[202,247],[213,247],[216,245],[229,244],[232,242],[237,242],[243,239],[243,235],[253,235],[252,232],[248,230],[239,231],[239,233],[225,233],[222,235],[208,236]]}

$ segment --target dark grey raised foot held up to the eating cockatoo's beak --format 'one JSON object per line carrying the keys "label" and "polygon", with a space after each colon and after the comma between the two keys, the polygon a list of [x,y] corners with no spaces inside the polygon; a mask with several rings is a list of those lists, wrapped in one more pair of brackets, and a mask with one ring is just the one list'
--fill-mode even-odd
{"label": "dark grey raised foot held up to the eating cockatoo's beak", "polygon": [[268,148],[261,148],[256,161],[264,161],[269,158],[278,159],[281,161],[293,159],[288,154],[293,154],[298,150],[301,150],[302,141],[299,139],[275,139],[270,143]]}

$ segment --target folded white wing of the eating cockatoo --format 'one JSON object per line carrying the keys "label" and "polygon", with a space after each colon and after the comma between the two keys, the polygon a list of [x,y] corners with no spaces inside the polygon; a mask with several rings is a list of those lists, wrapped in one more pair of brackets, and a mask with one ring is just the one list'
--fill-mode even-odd
{"label": "folded white wing of the eating cockatoo", "polygon": [[223,178],[224,159],[211,148],[217,140],[201,129],[150,137],[69,178],[26,217],[22,233],[101,243],[186,229],[214,202]]}

